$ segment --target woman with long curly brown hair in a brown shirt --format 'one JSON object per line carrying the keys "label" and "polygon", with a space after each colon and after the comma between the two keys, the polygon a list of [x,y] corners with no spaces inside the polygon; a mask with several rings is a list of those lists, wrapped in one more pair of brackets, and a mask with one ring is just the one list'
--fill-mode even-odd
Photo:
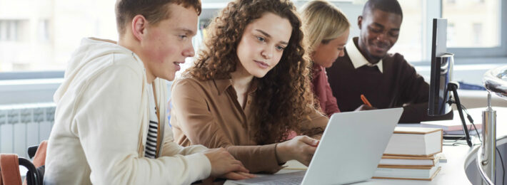
{"label": "woman with long curly brown hair in a brown shirt", "polygon": [[[293,3],[233,1],[209,34],[195,66],[172,86],[176,142],[224,147],[253,173],[276,172],[292,159],[308,165],[318,144],[311,137],[328,118],[313,105]],[[299,136],[288,139],[290,130]]]}

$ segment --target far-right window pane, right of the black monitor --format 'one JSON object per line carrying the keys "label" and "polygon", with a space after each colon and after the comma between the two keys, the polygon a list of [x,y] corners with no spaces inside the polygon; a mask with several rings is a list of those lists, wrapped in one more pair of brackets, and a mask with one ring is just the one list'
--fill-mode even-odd
{"label": "far-right window pane, right of the black monitor", "polygon": [[[442,4],[442,17],[453,24],[448,32],[448,52],[456,58],[507,57],[507,4],[501,0],[460,0],[456,4]],[[453,34],[452,36],[450,34]],[[467,63],[476,63],[469,60]],[[460,60],[455,60],[460,63]],[[505,63],[505,60],[498,60]]]}

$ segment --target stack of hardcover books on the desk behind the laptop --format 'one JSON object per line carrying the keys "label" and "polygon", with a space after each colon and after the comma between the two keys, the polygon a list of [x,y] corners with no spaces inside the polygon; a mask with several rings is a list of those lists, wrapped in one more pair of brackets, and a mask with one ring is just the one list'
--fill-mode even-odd
{"label": "stack of hardcover books on the desk behind the laptop", "polygon": [[431,181],[440,171],[442,129],[396,127],[373,179]]}

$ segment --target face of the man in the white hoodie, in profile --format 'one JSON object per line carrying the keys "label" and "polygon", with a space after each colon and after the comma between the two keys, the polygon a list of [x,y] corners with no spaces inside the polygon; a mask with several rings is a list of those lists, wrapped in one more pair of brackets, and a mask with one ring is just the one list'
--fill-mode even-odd
{"label": "face of the man in the white hoodie, in profile", "polygon": [[146,26],[141,52],[146,60],[146,73],[154,78],[174,80],[179,65],[185,58],[194,56],[191,38],[197,31],[198,15],[193,7],[186,9],[176,4],[169,5],[169,12],[169,18]]}

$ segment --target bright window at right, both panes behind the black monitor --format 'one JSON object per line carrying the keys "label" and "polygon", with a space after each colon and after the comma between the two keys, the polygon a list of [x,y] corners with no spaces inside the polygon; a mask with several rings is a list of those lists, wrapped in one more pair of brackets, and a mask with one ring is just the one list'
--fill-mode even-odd
{"label": "bright window at right, both panes behind the black monitor", "polygon": [[506,57],[507,47],[501,46],[507,36],[501,33],[501,17],[506,13],[501,10],[507,6],[501,5],[501,0],[398,1],[403,9],[403,23],[391,52],[403,54],[409,62],[429,61],[431,20],[438,17],[448,19],[448,52],[457,58]]}

